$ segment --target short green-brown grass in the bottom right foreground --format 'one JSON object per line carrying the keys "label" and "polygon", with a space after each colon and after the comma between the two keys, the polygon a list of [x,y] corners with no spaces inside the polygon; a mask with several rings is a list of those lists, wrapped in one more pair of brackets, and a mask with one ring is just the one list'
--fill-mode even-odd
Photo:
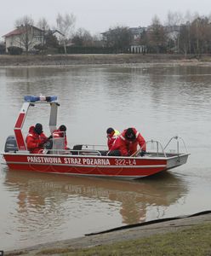
{"label": "short green-brown grass in the bottom right foreground", "polygon": [[138,240],[121,241],[109,245],[89,247],[86,249],[51,248],[37,255],[211,255],[211,224],[194,227],[163,235],[154,235]]}

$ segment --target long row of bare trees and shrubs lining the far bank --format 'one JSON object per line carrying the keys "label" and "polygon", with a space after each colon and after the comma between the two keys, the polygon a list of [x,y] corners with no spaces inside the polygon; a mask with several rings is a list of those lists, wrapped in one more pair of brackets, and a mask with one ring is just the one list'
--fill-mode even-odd
{"label": "long row of bare trees and shrubs lining the far bank", "polygon": [[[91,35],[84,28],[74,30],[76,17],[73,14],[56,17],[56,25],[50,29],[45,18],[38,20],[36,26],[43,31],[43,44],[37,45],[38,51],[54,49],[55,53],[112,53],[128,52],[131,45],[144,45],[145,53],[178,53],[184,55],[202,55],[211,53],[211,18],[200,15],[181,15],[168,12],[167,20],[162,23],[157,16],[151,25],[142,27],[138,37],[128,26],[113,26],[99,35]],[[21,38],[25,49],[29,48],[30,38],[27,28],[35,22],[29,16],[15,21],[16,27],[22,27],[26,33]],[[57,30],[59,37],[52,31]],[[1,50],[1,46],[0,46]],[[86,52],[87,50],[87,52]]]}

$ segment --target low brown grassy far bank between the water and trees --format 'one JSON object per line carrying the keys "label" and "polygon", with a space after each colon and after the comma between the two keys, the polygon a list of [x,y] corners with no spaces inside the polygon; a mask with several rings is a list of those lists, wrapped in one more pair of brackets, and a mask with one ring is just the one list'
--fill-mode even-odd
{"label": "low brown grassy far bank between the water and trees", "polygon": [[0,55],[0,67],[50,66],[50,65],[97,65],[127,63],[211,62],[210,56],[200,59],[184,55]]}

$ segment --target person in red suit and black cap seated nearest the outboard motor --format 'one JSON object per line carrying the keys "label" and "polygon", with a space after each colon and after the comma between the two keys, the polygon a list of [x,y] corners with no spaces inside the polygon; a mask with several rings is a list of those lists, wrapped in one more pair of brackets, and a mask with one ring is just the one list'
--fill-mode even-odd
{"label": "person in red suit and black cap seated nearest the outboard motor", "polygon": [[48,141],[43,133],[43,125],[37,123],[29,128],[29,133],[26,137],[26,147],[31,154],[43,154],[43,144]]}

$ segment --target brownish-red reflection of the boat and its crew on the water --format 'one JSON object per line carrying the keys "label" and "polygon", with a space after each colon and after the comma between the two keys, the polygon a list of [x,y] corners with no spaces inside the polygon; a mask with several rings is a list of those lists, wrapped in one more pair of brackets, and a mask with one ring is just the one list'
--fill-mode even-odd
{"label": "brownish-red reflection of the boat and its crew on the water", "polygon": [[[27,212],[28,207],[37,207],[42,211],[41,206],[46,207],[50,201],[56,201],[57,205],[60,205],[67,198],[83,196],[83,198],[93,198],[97,201],[120,202],[125,224],[145,220],[147,205],[169,206],[185,192],[180,178],[170,173],[140,181],[124,182],[113,179],[9,171],[4,184],[7,189],[18,190],[18,211],[20,212]],[[52,207],[55,207],[54,204]],[[52,209],[49,211],[51,212]]]}

